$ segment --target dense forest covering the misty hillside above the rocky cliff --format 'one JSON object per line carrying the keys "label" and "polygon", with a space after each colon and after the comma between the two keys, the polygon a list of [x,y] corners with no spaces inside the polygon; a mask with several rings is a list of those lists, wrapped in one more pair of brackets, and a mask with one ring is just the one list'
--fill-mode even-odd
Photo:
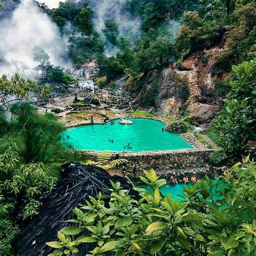
{"label": "dense forest covering the misty hillside above the rocky cliff", "polygon": [[[51,18],[63,32],[67,22],[73,25],[68,46],[73,62],[79,66],[97,59],[108,82],[124,73],[134,75],[173,60],[180,62],[212,46],[225,45],[215,56],[214,72],[219,75],[255,55],[254,1],[128,1],[122,11],[142,21],[140,35],[119,37],[118,24],[110,19],[102,30],[106,42],[93,25],[92,4],[68,0],[51,12]],[[176,22],[181,23],[180,31]],[[117,54],[106,57],[104,48],[110,46],[118,49]]]}

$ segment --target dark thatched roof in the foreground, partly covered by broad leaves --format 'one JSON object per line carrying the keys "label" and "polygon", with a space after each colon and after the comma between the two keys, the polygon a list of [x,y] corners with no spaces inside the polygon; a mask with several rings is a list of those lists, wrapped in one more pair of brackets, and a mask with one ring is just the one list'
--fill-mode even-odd
{"label": "dark thatched roof in the foreground, partly covered by broad leaves", "polygon": [[[48,255],[52,252],[45,242],[57,240],[57,231],[70,225],[64,222],[73,218],[72,208],[84,203],[89,196],[98,192],[109,194],[112,187],[110,180],[119,181],[123,187],[130,189],[126,180],[119,176],[110,176],[106,171],[78,163],[63,166],[63,180],[44,200],[39,214],[31,220],[24,221],[21,232],[15,239],[17,255]],[[92,244],[81,244],[78,255],[85,255],[92,250]]]}

